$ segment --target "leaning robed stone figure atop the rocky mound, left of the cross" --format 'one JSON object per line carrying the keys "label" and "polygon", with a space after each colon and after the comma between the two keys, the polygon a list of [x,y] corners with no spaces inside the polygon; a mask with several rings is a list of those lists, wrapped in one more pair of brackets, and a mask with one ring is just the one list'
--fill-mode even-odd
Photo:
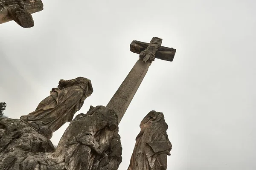
{"label": "leaning robed stone figure atop the rocky mound, left of the cross", "polygon": [[50,96],[42,100],[35,111],[20,119],[50,139],[54,131],[73,119],[92,93],[92,84],[87,78],[61,79],[58,88],[52,88]]}

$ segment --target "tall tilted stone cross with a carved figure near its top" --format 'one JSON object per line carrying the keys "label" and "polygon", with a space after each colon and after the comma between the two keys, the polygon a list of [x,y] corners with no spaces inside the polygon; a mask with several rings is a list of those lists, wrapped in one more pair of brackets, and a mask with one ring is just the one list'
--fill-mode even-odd
{"label": "tall tilted stone cross with a carved figure near its top", "polygon": [[125,114],[128,106],[131,103],[140,83],[148,71],[151,62],[155,58],[166,61],[172,61],[176,50],[161,46],[162,39],[153,37],[150,43],[133,41],[130,44],[131,52],[140,54],[140,59],[135,63],[130,73],[122,82],[107,107],[114,109],[118,115],[118,123]]}

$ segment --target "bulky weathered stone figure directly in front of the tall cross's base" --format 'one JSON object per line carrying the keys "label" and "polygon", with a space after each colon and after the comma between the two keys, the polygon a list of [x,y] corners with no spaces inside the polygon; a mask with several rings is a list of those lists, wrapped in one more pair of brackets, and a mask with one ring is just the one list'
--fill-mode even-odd
{"label": "bulky weathered stone figure directly in front of the tall cross's base", "polygon": [[[113,141],[115,140],[115,141]],[[115,151],[115,146],[119,151]],[[67,170],[117,170],[122,161],[117,115],[113,109],[93,106],[70,123],[54,157],[65,161]],[[104,169],[105,170],[105,169]]]}

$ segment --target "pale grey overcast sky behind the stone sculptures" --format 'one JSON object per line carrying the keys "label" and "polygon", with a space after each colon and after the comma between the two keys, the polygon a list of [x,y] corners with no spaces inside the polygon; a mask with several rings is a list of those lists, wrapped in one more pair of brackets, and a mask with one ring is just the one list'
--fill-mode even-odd
{"label": "pale grey overcast sky behind the stone sculptures", "polygon": [[[256,169],[255,0],[43,0],[35,26],[0,25],[5,115],[35,110],[60,79],[87,77],[90,105],[107,105],[138,54],[133,40],[163,39],[173,62],[150,66],[120,125],[126,170],[151,110],[163,112],[173,148],[168,170]],[[76,116],[76,115],[75,115]],[[53,134],[57,145],[68,126]]]}

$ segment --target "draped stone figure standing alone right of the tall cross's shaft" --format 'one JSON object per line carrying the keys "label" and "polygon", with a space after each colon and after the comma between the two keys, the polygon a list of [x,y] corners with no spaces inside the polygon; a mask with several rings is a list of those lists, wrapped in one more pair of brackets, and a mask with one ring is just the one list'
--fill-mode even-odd
{"label": "draped stone figure standing alone right of the tall cross's shaft", "polygon": [[145,116],[128,170],[166,170],[167,155],[171,155],[172,149],[167,129],[163,113],[151,111]]}

